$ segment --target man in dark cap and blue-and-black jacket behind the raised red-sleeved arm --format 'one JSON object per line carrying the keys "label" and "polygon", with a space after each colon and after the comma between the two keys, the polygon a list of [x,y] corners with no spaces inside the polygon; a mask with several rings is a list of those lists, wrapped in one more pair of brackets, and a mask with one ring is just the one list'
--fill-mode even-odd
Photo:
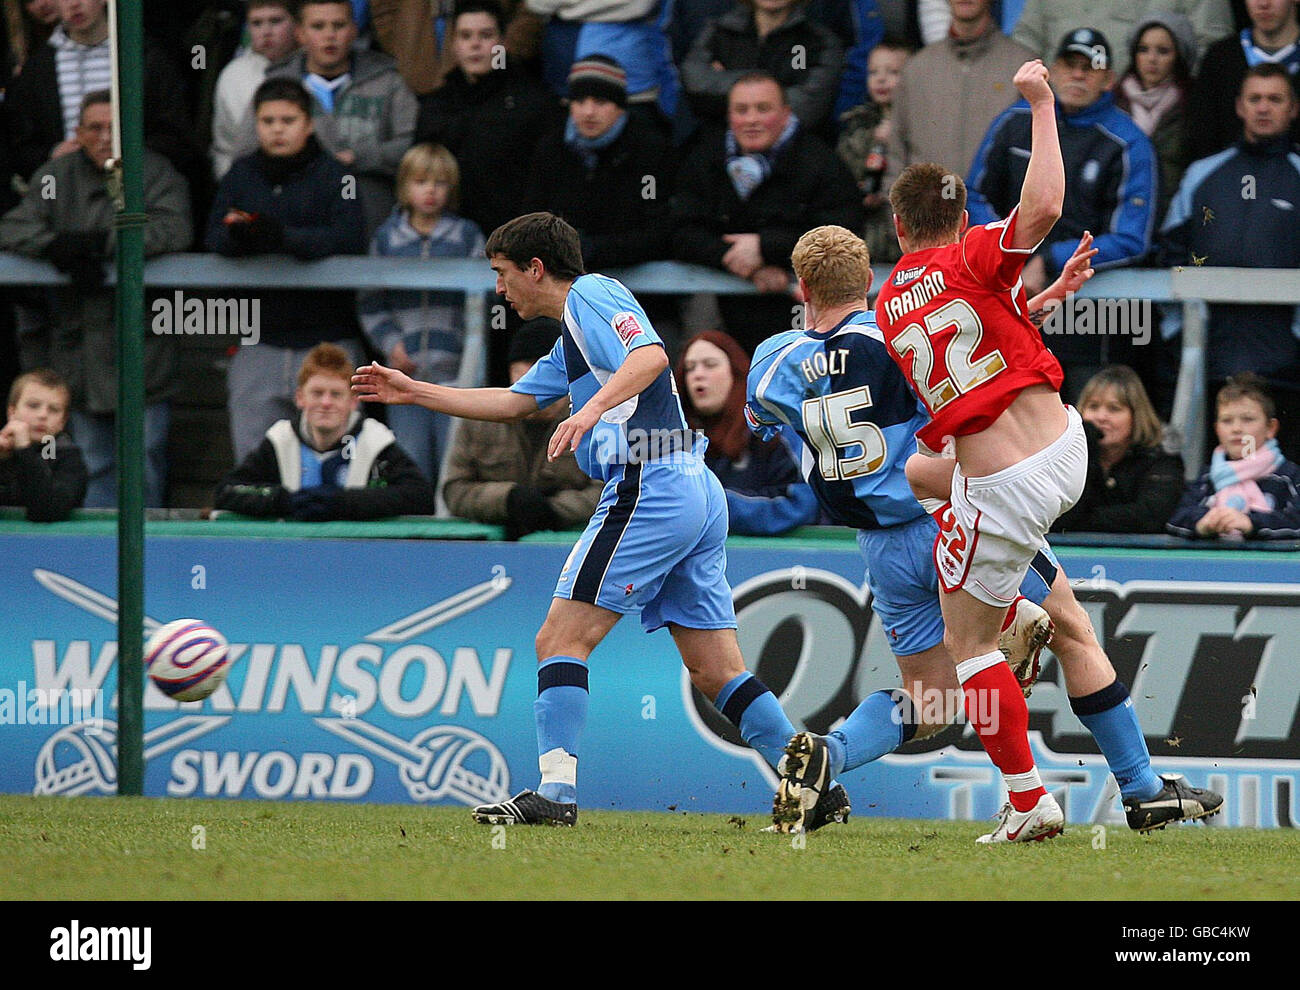
{"label": "man in dark cap and blue-and-black jacket behind the raised red-sleeved arm", "polygon": [[[1061,39],[1052,88],[1065,160],[1065,204],[1061,220],[1024,265],[1022,278],[1031,298],[1061,274],[1086,231],[1095,236],[1092,265],[1098,272],[1135,265],[1150,249],[1158,162],[1150,139],[1115,107],[1110,65],[1110,44],[1100,31],[1080,27]],[[1024,100],[1011,104],[989,127],[966,179],[972,226],[1006,217],[1019,203],[1030,164],[1030,130]],[[1071,400],[1104,366],[1136,362],[1132,338],[1113,333],[1066,333],[1049,344],[1065,369],[1061,392]]]}

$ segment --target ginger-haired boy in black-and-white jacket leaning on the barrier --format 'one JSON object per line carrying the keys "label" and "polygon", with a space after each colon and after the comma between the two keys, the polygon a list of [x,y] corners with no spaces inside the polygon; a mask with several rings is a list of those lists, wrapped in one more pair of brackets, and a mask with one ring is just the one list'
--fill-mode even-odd
{"label": "ginger-haired boy in black-and-white jacket leaning on the barrier", "polygon": [[352,359],[313,347],[298,372],[298,424],[281,420],[217,489],[216,507],[300,522],[433,513],[433,487],[394,440],[364,418]]}

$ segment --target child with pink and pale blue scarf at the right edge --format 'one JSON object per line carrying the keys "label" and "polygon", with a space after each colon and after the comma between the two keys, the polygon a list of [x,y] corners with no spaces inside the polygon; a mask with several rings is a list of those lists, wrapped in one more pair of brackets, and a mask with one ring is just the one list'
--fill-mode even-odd
{"label": "child with pink and pale blue scarf at the right edge", "polygon": [[1178,537],[1300,538],[1300,466],[1278,448],[1278,420],[1264,379],[1232,375],[1216,396],[1210,466],[1187,486],[1169,521]]}

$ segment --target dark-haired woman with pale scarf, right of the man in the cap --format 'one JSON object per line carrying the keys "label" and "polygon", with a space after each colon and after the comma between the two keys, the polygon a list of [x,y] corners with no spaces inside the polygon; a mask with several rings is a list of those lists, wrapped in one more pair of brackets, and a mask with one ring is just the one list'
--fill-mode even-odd
{"label": "dark-haired woman with pale scarf, right of the man in the cap", "polygon": [[1157,217],[1164,217],[1187,169],[1184,108],[1192,83],[1196,32],[1183,14],[1154,13],[1128,38],[1128,71],[1115,105],[1150,138],[1160,161]]}

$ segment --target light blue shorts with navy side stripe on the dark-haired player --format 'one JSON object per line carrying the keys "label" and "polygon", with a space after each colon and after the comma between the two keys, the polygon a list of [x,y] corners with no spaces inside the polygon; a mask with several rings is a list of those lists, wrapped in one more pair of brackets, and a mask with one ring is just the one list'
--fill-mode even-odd
{"label": "light blue shorts with navy side stripe on the dark-haired player", "polygon": [[615,469],[555,585],[555,598],[670,624],[734,629],[727,583],[727,496],[702,459]]}

